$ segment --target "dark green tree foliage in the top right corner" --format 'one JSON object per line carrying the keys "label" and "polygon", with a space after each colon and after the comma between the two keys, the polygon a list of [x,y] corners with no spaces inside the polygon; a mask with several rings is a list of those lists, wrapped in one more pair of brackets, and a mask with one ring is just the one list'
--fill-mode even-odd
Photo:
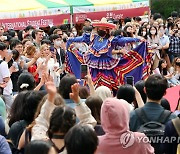
{"label": "dark green tree foliage in the top right corner", "polygon": [[180,13],[180,0],[151,0],[151,10],[168,18],[172,11]]}

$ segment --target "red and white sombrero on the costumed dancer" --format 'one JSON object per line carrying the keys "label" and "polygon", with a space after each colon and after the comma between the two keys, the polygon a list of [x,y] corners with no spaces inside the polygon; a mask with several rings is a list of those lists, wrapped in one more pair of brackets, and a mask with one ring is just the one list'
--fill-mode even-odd
{"label": "red and white sombrero on the costumed dancer", "polygon": [[113,23],[109,23],[106,18],[102,18],[101,21],[93,22],[93,27],[105,27],[107,29],[114,29],[116,28],[116,25]]}

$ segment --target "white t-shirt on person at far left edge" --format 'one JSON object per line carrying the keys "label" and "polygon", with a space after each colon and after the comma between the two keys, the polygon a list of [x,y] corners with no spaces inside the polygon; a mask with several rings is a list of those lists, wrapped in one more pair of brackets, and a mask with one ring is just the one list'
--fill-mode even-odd
{"label": "white t-shirt on person at far left edge", "polygon": [[[3,79],[7,78],[7,77],[10,78],[10,72],[9,72],[7,62],[3,61],[0,64],[0,83],[2,83]],[[10,78],[8,83],[7,83],[7,86],[3,90],[3,95],[11,95],[12,94],[12,88],[13,88],[13,85],[12,85],[12,81]]]}

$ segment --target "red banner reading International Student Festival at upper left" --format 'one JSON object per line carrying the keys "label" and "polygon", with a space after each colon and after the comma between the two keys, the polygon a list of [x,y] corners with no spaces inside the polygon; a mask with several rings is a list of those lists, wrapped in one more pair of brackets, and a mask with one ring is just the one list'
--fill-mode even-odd
{"label": "red banner reading International Student Festival at upper left", "polygon": [[28,18],[0,19],[0,24],[2,24],[5,27],[5,29],[21,30],[26,28],[26,26],[28,25],[32,25],[35,28],[39,28],[66,24],[69,23],[69,21],[70,14],[60,14]]}

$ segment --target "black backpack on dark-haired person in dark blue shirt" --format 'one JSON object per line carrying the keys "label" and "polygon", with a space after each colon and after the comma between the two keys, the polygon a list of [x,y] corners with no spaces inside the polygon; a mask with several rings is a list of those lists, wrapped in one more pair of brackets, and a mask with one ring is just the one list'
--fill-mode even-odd
{"label": "black backpack on dark-haired person in dark blue shirt", "polygon": [[135,113],[142,123],[137,132],[144,133],[154,147],[155,153],[161,154],[160,144],[164,136],[165,123],[171,115],[171,112],[164,110],[157,121],[149,120],[143,108],[136,109]]}

